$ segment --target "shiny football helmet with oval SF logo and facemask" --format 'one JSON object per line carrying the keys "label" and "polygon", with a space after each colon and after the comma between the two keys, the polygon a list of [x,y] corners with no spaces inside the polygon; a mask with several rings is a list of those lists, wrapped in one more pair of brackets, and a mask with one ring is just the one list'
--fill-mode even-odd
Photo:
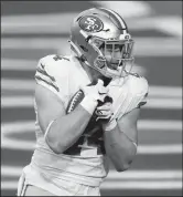
{"label": "shiny football helmet with oval SF logo and facemask", "polygon": [[123,19],[112,10],[93,8],[80,12],[71,27],[69,42],[85,64],[107,77],[131,71],[133,40]]}

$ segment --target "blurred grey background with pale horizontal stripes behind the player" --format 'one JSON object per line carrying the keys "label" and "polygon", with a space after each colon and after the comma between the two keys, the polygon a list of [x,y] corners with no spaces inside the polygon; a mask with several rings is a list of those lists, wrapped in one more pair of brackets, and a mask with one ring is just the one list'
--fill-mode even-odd
{"label": "blurred grey background with pale horizontal stripes behind the player", "polygon": [[1,1],[1,196],[14,196],[34,144],[39,59],[69,53],[69,24],[92,7],[119,12],[134,39],[133,70],[150,85],[131,168],[104,196],[182,196],[182,1]]}

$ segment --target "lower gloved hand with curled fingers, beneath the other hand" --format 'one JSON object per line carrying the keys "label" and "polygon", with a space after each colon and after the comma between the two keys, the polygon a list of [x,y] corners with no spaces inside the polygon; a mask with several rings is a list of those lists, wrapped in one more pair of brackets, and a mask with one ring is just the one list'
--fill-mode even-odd
{"label": "lower gloved hand with curled fingers, beneath the other hand", "polygon": [[112,111],[111,111],[111,103],[106,102],[103,105],[98,106],[95,111],[95,114],[97,115],[96,121],[101,120],[105,123],[109,122],[110,117],[112,116]]}

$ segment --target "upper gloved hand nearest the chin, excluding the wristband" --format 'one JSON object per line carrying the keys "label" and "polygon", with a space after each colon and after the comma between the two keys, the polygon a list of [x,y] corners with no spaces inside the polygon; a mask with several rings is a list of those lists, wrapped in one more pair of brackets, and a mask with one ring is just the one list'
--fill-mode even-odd
{"label": "upper gloved hand nearest the chin, excluding the wristband", "polygon": [[104,102],[108,93],[108,87],[104,86],[104,81],[98,80],[96,85],[82,86],[80,90],[84,92],[85,96],[98,102]]}

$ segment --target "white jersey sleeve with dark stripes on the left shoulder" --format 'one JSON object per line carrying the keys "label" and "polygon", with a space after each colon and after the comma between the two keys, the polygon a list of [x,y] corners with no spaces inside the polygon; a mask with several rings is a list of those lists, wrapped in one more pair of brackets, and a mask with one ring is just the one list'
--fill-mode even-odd
{"label": "white jersey sleeve with dark stripes on the left shoulder", "polygon": [[68,61],[54,54],[44,56],[40,59],[34,76],[37,84],[55,93],[64,103],[68,94]]}

